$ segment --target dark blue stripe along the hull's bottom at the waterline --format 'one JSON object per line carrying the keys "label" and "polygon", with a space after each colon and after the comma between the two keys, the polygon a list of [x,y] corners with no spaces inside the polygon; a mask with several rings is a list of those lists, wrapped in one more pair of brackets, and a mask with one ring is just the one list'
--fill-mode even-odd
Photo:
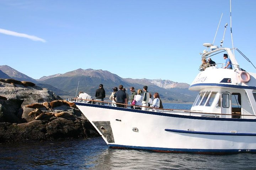
{"label": "dark blue stripe along the hull's bottom at the waterline", "polygon": [[160,152],[193,152],[193,153],[256,153],[256,149],[183,149],[183,148],[159,148],[159,147],[143,147],[143,146],[127,146],[108,144],[113,148],[128,148],[128,149],[145,149]]}

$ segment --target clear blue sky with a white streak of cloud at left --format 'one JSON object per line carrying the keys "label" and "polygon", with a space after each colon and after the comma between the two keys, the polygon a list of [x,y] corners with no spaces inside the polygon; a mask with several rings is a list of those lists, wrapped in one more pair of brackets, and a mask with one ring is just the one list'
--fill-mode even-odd
{"label": "clear blue sky with a white streak of cloud at left", "polygon": [[[234,47],[256,66],[255,8],[231,1]],[[232,48],[230,0],[0,0],[0,13],[0,65],[34,79],[91,68],[191,84],[222,13],[214,45],[228,23],[223,47]],[[223,63],[223,54],[212,60]]]}

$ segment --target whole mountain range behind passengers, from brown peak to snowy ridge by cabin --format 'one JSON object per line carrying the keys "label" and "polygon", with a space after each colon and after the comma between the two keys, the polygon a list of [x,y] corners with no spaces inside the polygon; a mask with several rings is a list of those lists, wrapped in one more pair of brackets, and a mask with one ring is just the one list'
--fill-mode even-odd
{"label": "whole mountain range behind passengers, from brown peak to snowy ridge by cabin", "polygon": [[124,79],[106,70],[84,70],[79,68],[64,74],[42,77],[37,81],[50,84],[72,95],[75,95],[78,90],[94,96],[99,84],[104,85],[106,96],[110,96],[112,88],[118,87],[120,84],[127,89],[128,94],[130,94],[129,88],[131,86],[135,87],[135,89],[143,89],[143,86],[147,85],[151,94],[158,92],[160,97],[167,101],[193,102],[197,95],[197,92],[188,90],[189,85],[186,83],[161,79]]}

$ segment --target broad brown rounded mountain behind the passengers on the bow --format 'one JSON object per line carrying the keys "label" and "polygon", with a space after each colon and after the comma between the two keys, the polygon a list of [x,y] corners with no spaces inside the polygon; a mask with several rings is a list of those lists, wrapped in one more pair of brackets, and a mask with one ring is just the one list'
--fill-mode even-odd
{"label": "broad brown rounded mountain behind the passengers on the bow", "polygon": [[[50,84],[58,89],[66,91],[72,95],[76,95],[76,90],[85,91],[94,96],[95,90],[99,84],[103,84],[106,95],[110,95],[112,88],[122,84],[124,87],[130,87],[130,84],[116,74],[112,74],[105,70],[93,69],[77,69],[71,72],[60,74],[57,77],[48,76],[48,79],[38,79],[39,82]],[[45,78],[45,77],[44,77]],[[79,82],[79,86],[78,86]]]}

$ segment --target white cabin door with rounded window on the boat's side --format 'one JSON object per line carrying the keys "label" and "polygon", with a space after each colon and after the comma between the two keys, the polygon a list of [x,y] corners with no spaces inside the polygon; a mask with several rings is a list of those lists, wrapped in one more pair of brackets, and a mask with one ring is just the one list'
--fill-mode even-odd
{"label": "white cabin door with rounded window on the boat's side", "polygon": [[230,115],[222,115],[222,118],[230,118],[231,116],[231,106],[230,106],[230,93],[222,92],[221,94],[221,108],[222,114],[230,114]]}

